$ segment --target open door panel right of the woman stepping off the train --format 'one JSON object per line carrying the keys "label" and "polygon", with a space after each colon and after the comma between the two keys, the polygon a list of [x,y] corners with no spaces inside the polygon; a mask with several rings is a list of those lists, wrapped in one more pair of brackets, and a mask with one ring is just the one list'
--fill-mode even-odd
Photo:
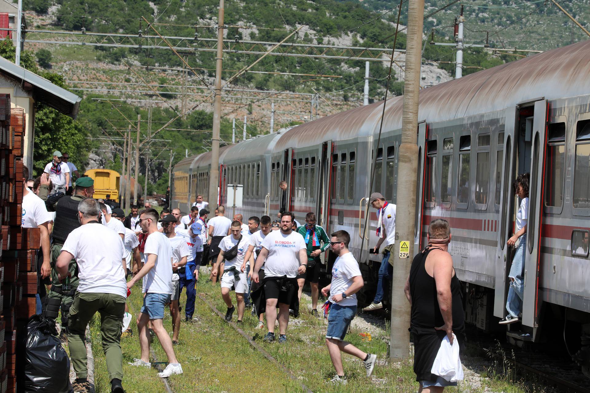
{"label": "open door panel right of the woman stepping off the train", "polygon": [[[530,162],[529,214],[525,248],[522,324],[537,328],[539,318],[539,264],[543,220],[543,189],[545,186],[545,146],[547,131],[547,100],[535,102],[532,154]],[[533,330],[533,340],[535,339]]]}

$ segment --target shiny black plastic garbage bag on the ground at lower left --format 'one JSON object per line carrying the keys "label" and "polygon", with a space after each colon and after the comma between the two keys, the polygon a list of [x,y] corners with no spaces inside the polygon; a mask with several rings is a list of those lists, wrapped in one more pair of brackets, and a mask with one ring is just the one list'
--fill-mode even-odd
{"label": "shiny black plastic garbage bag on the ground at lower left", "polygon": [[33,315],[25,328],[25,392],[69,393],[70,358],[57,337],[55,321]]}

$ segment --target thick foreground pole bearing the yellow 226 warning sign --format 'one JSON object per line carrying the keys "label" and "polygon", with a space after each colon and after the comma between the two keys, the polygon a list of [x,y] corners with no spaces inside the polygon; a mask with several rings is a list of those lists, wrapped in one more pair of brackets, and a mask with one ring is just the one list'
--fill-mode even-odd
{"label": "thick foreground pole bearing the yellow 226 warning sign", "polygon": [[[420,64],[422,48],[422,21],[424,0],[409,0],[408,32],[405,63],[404,108],[402,112],[402,143],[399,146],[398,187],[395,217],[395,246],[389,256],[394,266],[391,285],[391,325],[389,330],[389,356],[392,359],[406,359],[409,355],[410,306],[405,297],[404,286],[408,278],[414,255],[414,212],[416,209],[416,186],[418,172],[418,96],[420,88]],[[401,206],[400,206],[401,205]],[[400,258],[395,252],[398,245],[407,243],[408,257]]]}

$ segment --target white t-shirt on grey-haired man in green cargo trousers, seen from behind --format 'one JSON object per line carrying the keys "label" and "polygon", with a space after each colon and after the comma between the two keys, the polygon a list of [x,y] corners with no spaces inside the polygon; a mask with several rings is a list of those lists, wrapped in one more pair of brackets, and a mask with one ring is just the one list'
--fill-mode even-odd
{"label": "white t-shirt on grey-haired man in green cargo trousers, seen from behind", "polygon": [[70,232],[61,250],[73,255],[78,263],[78,292],[127,296],[123,240],[112,229],[84,224]]}

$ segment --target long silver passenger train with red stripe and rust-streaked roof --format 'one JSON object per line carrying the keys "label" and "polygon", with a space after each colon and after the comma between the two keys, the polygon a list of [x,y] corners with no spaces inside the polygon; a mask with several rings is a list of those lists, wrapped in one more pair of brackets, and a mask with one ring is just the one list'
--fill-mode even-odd
{"label": "long silver passenger train with red stripe and rust-streaked roof", "polygon": [[[402,97],[388,100],[377,146],[382,105],[225,146],[219,154],[221,204],[229,184],[243,184],[239,213],[276,215],[278,183],[286,180],[286,207],[300,222],[315,212],[327,233],[351,234],[365,303],[375,293],[381,259],[368,252],[376,243],[375,210],[364,227],[373,155],[373,191],[404,209],[395,196]],[[467,322],[496,328],[506,313],[513,252],[506,241],[519,207],[512,183],[530,172],[523,318],[507,335],[516,344],[539,342],[550,329],[565,331],[568,321],[567,344],[587,367],[590,354],[581,343],[590,341],[590,40],[423,89],[418,116],[416,249],[425,245],[432,219],[447,219]],[[197,193],[207,195],[210,168],[210,153],[177,164],[172,206],[187,212]]]}

